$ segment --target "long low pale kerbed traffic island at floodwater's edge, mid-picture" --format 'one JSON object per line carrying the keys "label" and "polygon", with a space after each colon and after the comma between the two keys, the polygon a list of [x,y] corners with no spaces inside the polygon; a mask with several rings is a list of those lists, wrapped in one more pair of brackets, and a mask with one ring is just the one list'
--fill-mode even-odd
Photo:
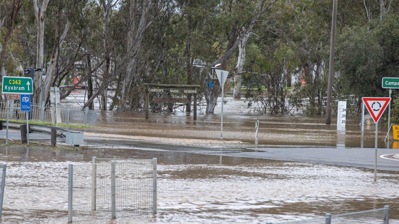
{"label": "long low pale kerbed traffic island at floodwater's edge, mid-picture", "polygon": [[85,137],[105,138],[105,139],[126,139],[135,141],[151,141],[171,144],[240,144],[242,141],[226,141],[226,140],[202,140],[202,139],[181,139],[181,138],[162,138],[150,136],[127,136],[117,134],[103,134],[94,132],[84,132]]}

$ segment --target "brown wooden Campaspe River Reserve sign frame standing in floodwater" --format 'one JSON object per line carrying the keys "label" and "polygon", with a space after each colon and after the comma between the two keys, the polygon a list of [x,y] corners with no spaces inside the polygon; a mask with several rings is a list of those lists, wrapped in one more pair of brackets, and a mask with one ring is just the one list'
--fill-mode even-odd
{"label": "brown wooden Campaspe River Reserve sign frame standing in floodwater", "polygon": [[[153,83],[144,83],[145,92],[146,92],[146,119],[148,119],[148,104],[150,101],[149,92],[165,92],[165,93],[185,93],[185,94],[194,94],[194,118],[193,120],[197,120],[197,88],[200,85],[178,85],[178,84],[153,84]],[[180,88],[180,89],[174,89]],[[184,89],[182,89],[184,88]],[[190,100],[188,98],[160,98],[155,97],[152,99],[154,102],[168,102],[168,103],[185,103],[188,104]]]}

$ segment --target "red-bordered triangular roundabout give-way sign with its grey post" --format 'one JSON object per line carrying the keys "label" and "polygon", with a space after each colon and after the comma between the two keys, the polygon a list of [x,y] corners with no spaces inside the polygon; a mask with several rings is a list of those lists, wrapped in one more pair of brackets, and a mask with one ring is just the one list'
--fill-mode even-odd
{"label": "red-bordered triangular roundabout give-way sign with its grey post", "polygon": [[390,97],[363,97],[363,100],[367,110],[369,111],[371,118],[375,122],[375,141],[374,141],[374,181],[377,181],[377,143],[378,143],[378,121],[381,118],[385,108],[387,108]]}

